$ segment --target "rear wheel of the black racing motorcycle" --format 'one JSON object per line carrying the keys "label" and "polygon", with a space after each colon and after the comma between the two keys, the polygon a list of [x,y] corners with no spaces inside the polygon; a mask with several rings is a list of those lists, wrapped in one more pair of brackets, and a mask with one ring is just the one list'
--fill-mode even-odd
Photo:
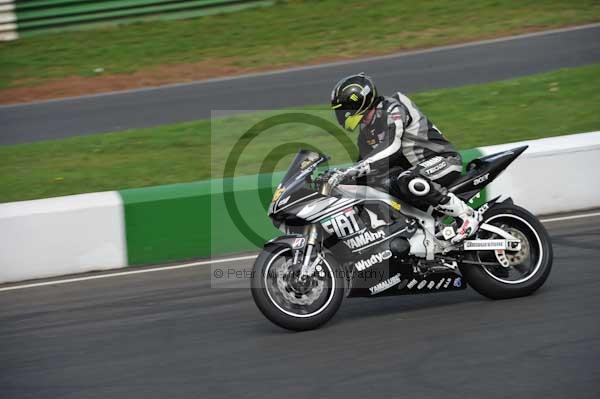
{"label": "rear wheel of the black racing motorcycle", "polygon": [[[473,252],[471,262],[461,272],[480,294],[492,299],[526,296],[540,288],[552,269],[552,243],[542,223],[527,210],[513,204],[500,204],[483,215],[483,223],[500,227],[521,241],[519,251],[506,251],[508,263],[498,262],[494,251]],[[501,238],[486,230],[477,239]],[[496,264],[494,264],[496,263]]]}

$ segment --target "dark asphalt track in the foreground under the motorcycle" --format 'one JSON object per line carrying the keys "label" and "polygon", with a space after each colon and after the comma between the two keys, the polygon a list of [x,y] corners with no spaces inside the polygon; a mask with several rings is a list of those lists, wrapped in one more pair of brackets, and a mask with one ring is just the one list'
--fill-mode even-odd
{"label": "dark asphalt track in the foreground under the motorcycle", "polygon": [[600,217],[546,226],[533,296],[347,299],[305,333],[207,266],[0,292],[0,396],[598,398]]}

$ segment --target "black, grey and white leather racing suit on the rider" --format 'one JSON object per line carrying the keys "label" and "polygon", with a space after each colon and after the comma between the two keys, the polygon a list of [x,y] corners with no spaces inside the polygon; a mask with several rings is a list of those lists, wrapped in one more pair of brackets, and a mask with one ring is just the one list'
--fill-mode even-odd
{"label": "black, grey and white leather racing suit on the rider", "polygon": [[415,104],[398,92],[382,97],[368,124],[361,123],[359,161],[378,172],[398,169],[390,176],[392,195],[416,206],[446,202],[444,186],[461,173],[460,154]]}

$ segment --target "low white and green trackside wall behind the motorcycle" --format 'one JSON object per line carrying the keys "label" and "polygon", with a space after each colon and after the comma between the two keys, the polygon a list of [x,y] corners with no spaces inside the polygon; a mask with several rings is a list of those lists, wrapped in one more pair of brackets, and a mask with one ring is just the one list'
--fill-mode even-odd
{"label": "low white and green trackside wall behind the motorcycle", "polygon": [[[523,144],[479,201],[509,195],[537,214],[600,206],[600,132],[483,147],[463,160]],[[280,178],[234,181],[240,216],[264,239],[277,234],[265,209]],[[256,250],[226,194],[210,180],[0,204],[0,283]]]}

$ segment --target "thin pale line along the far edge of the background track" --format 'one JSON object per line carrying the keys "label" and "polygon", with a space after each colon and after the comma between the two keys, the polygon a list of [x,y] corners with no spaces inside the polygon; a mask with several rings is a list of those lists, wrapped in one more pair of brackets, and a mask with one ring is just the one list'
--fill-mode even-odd
{"label": "thin pale line along the far edge of the background track", "polygon": [[466,43],[448,44],[448,45],[444,45],[444,46],[437,46],[437,47],[431,47],[431,48],[426,48],[426,49],[407,50],[407,51],[401,51],[401,52],[392,53],[392,54],[378,55],[378,56],[374,56],[374,57],[355,58],[355,59],[351,59],[351,60],[334,61],[334,62],[328,62],[328,63],[324,63],[324,64],[304,65],[304,66],[291,67],[291,68],[285,68],[285,69],[276,69],[273,71],[266,71],[266,72],[252,72],[252,73],[246,73],[246,74],[241,74],[241,75],[195,80],[192,82],[167,83],[167,84],[159,85],[159,86],[140,87],[140,88],[128,89],[128,90],[114,90],[114,91],[107,91],[107,92],[102,92],[102,93],[87,94],[87,95],[83,95],[83,96],[68,96],[68,97],[61,97],[61,98],[52,98],[49,100],[33,101],[33,102],[28,102],[28,103],[6,104],[6,105],[0,105],[0,109],[13,108],[13,107],[25,107],[25,106],[29,106],[29,105],[47,104],[47,103],[55,103],[55,102],[78,101],[78,100],[84,100],[84,99],[121,95],[121,94],[143,93],[143,92],[147,92],[147,91],[171,89],[171,88],[185,87],[185,86],[195,86],[195,85],[208,84],[208,83],[226,82],[226,81],[238,80],[238,79],[259,78],[259,77],[265,77],[265,76],[270,76],[270,75],[280,75],[280,74],[285,74],[285,73],[301,72],[301,71],[307,71],[307,70],[313,70],[313,69],[330,68],[330,67],[336,67],[336,66],[342,66],[342,65],[351,65],[351,64],[356,64],[356,63],[360,63],[360,62],[373,62],[373,61],[387,60],[387,59],[392,59],[392,58],[412,56],[412,55],[418,55],[418,54],[435,53],[438,51],[455,50],[455,49],[460,49],[460,48],[474,47],[474,46],[480,46],[480,45],[486,45],[486,44],[502,43],[502,42],[508,42],[508,41],[512,41],[512,40],[527,39],[527,38],[531,38],[531,37],[553,35],[553,34],[557,34],[557,33],[574,32],[574,31],[578,31],[578,30],[582,30],[582,29],[597,28],[599,26],[600,26],[600,23],[596,22],[596,23],[591,23],[591,24],[586,24],[586,25],[568,26],[565,28],[557,28],[557,29],[550,29],[550,30],[542,30],[542,31],[538,31],[538,32],[523,33],[523,34],[512,35],[512,36],[504,36],[504,37],[499,37],[499,38],[495,38],[495,39],[483,39],[483,40],[476,40],[476,41],[466,42]]}

